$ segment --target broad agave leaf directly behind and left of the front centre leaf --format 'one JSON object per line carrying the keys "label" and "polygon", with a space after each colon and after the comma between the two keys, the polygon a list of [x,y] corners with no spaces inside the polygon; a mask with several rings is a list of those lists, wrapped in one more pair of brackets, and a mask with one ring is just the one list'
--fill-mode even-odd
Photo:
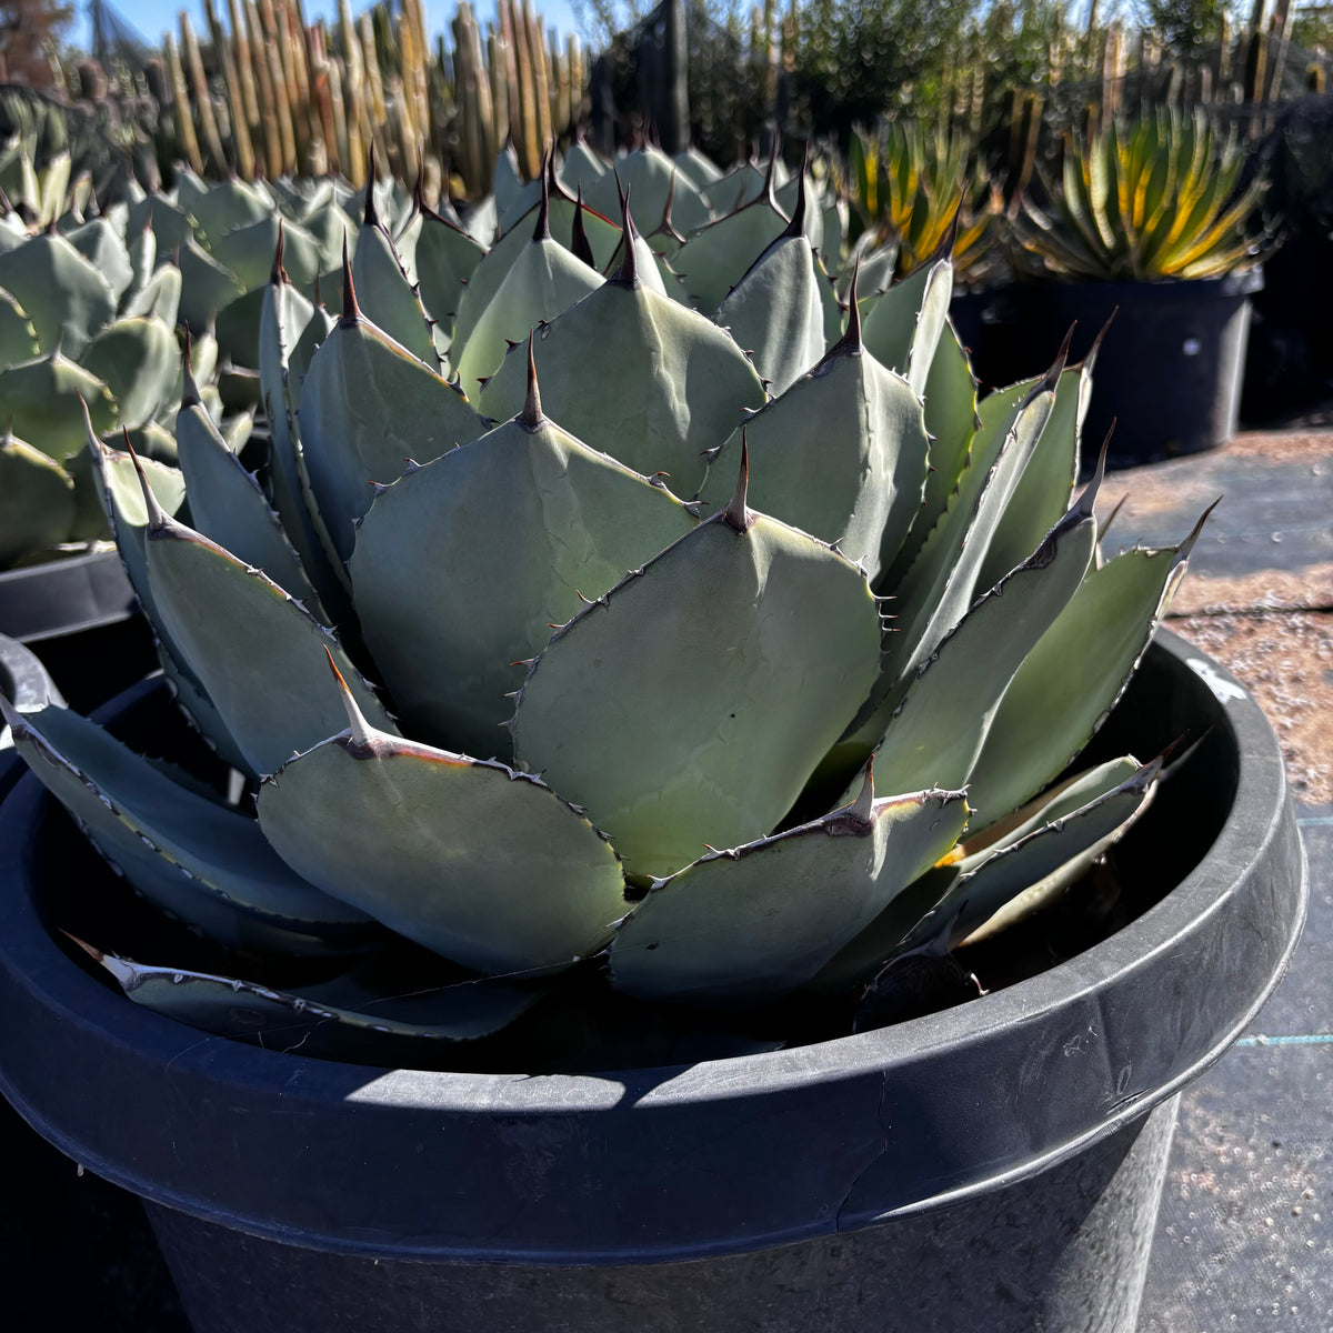
{"label": "broad agave leaf directly behind and left of the front centre leaf", "polygon": [[580,596],[601,596],[693,524],[540,405],[401,477],[371,505],[351,572],[365,643],[412,734],[507,756],[519,660]]}

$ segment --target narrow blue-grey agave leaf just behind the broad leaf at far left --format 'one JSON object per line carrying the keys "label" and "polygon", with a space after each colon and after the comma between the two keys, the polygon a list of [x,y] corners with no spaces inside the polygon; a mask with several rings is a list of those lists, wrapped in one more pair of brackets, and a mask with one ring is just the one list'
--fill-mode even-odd
{"label": "narrow blue-grey agave leaf just behind the broad leaf at far left", "polygon": [[319,593],[305,577],[300,557],[259,483],[199,403],[181,405],[176,445],[195,527],[239,560],[263,569],[311,615],[328,624]]}

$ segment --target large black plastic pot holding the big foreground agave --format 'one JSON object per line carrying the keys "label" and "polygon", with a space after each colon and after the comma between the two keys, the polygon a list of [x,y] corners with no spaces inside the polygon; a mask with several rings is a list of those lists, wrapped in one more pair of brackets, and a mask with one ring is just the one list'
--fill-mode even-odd
{"label": "large black plastic pot holding the big foreground agave", "polygon": [[1130,1333],[1176,1093],[1276,986],[1306,897],[1268,722],[1162,635],[1098,744],[1181,734],[1204,738],[1116,853],[1137,914],[1068,961],[813,1045],[541,1077],[317,1061],[136,1008],[57,932],[124,889],[72,869],[24,778],[0,1086],[143,1196],[199,1333]]}

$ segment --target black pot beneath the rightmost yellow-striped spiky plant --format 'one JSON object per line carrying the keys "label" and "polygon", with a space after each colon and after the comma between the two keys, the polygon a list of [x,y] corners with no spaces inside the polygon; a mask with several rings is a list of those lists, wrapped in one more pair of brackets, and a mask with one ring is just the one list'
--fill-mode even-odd
{"label": "black pot beneath the rightmost yellow-striped spiky plant", "polygon": [[[1016,283],[1008,313],[993,312],[989,332],[1030,364],[1033,353],[1053,357],[1076,325],[1073,363],[1114,315],[1093,372],[1084,463],[1096,461],[1113,420],[1112,457],[1152,463],[1216,448],[1236,433],[1250,296],[1262,285],[1258,268],[1193,281]],[[1005,380],[1020,377],[1016,365],[1002,369],[1013,372]]]}

